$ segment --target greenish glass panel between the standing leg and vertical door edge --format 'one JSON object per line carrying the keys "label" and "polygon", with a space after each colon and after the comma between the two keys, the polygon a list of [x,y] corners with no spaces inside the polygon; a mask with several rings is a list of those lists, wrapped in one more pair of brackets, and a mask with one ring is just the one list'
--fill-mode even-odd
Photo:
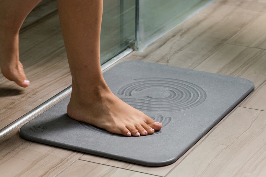
{"label": "greenish glass panel between the standing leg and vertical door edge", "polygon": [[101,64],[135,39],[135,0],[104,0],[100,39]]}

